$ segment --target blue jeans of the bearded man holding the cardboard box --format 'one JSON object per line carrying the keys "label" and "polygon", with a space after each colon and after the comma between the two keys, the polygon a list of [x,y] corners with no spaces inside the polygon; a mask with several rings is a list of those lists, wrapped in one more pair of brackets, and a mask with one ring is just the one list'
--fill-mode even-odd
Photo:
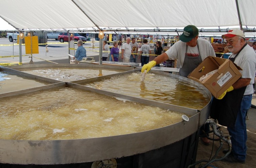
{"label": "blue jeans of the bearded man holding the cardboard box", "polygon": [[241,108],[237,113],[235,126],[230,128],[228,127],[229,135],[231,135],[232,143],[232,153],[234,157],[238,160],[244,161],[246,157],[246,141],[247,141],[247,132],[246,132],[246,112],[251,107],[252,103],[252,94],[243,96],[241,103]]}

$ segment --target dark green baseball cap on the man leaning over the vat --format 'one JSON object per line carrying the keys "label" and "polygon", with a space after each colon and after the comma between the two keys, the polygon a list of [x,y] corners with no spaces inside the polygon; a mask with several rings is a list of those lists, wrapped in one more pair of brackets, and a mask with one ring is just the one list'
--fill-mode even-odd
{"label": "dark green baseball cap on the man leaning over the vat", "polygon": [[194,25],[188,25],[183,30],[180,36],[180,40],[183,42],[189,42],[198,35],[198,29]]}

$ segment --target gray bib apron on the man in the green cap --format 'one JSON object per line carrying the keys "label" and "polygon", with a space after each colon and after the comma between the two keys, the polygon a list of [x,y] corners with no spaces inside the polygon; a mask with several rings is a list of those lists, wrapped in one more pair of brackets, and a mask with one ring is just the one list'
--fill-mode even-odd
{"label": "gray bib apron on the man in the green cap", "polygon": [[202,62],[202,58],[201,58],[200,51],[199,51],[199,45],[197,42],[196,42],[196,46],[198,48],[199,56],[198,57],[189,57],[187,55],[188,45],[186,45],[186,53],[185,53],[184,63],[183,63],[182,68],[180,68],[180,72],[179,72],[180,76],[188,77],[190,72],[192,72]]}

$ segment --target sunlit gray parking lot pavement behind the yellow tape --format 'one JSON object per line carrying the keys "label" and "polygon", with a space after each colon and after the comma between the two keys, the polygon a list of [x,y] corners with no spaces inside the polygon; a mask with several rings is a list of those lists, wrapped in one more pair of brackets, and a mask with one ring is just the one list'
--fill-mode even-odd
{"label": "sunlit gray parking lot pavement behind the yellow tape", "polygon": [[[68,60],[68,43],[60,43],[55,39],[47,40],[48,46],[46,53],[45,45],[39,45],[39,54],[32,54],[33,62],[44,62],[44,61],[52,61],[54,60]],[[95,42],[95,48],[92,48],[91,41],[87,41],[84,44],[86,48],[87,56],[98,56],[99,55],[99,42]],[[75,48],[77,45],[75,44]],[[1,64],[19,64],[19,44],[17,41],[13,43],[10,42],[7,38],[0,38],[0,63]],[[75,50],[73,51],[74,55]],[[31,54],[26,54],[25,45],[22,45],[22,64],[29,64],[31,61]],[[62,61],[60,61],[62,62]],[[64,61],[65,62],[65,61]],[[67,61],[68,62],[68,61]],[[49,62],[50,63],[50,62]]]}

